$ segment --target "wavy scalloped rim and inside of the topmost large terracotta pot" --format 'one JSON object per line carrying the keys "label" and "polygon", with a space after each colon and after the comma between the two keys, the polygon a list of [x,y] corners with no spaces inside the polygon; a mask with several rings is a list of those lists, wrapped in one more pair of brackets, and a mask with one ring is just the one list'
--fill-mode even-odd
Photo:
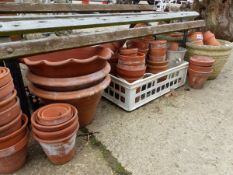
{"label": "wavy scalloped rim and inside of the topmost large terracotta pot", "polygon": [[[67,58],[66,55],[72,51],[74,52],[72,53],[74,54],[73,58],[72,57],[70,58],[70,56]],[[79,57],[79,54],[77,54],[78,51],[82,51],[87,55],[83,56],[84,58],[78,58]],[[96,51],[94,56],[92,51]],[[90,53],[92,54],[89,55]],[[40,64],[49,65],[49,66],[61,66],[67,63],[89,63],[96,59],[102,59],[107,61],[108,59],[111,58],[112,54],[113,54],[112,50],[105,47],[100,47],[100,46],[82,47],[82,48],[68,49],[63,51],[56,51],[56,52],[26,57],[23,58],[22,61],[23,63],[29,66],[40,65]],[[55,55],[55,58],[53,58],[54,61],[46,60],[46,58],[52,57],[53,55]],[[43,59],[41,57],[43,57]]]}

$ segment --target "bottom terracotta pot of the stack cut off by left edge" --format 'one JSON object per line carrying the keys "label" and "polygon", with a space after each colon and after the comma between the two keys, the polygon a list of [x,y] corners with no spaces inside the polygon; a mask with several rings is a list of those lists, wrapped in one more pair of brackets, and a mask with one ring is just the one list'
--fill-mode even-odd
{"label": "bottom terracotta pot of the stack cut off by left edge", "polygon": [[5,149],[0,149],[0,173],[14,173],[26,162],[28,130],[20,140]]}

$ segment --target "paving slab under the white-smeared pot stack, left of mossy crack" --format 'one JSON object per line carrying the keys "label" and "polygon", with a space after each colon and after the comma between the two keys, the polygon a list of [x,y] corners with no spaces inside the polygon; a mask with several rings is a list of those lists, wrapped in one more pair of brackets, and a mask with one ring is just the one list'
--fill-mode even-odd
{"label": "paving slab under the white-smeared pot stack, left of mossy crack", "polygon": [[27,163],[14,175],[114,175],[101,151],[85,137],[77,137],[76,148],[76,155],[70,162],[53,165],[40,145],[31,139]]}

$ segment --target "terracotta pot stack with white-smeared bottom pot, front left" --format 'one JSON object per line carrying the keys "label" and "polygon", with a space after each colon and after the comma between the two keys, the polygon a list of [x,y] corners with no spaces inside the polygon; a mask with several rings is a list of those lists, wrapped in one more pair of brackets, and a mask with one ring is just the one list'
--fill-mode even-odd
{"label": "terracotta pot stack with white-smeared bottom pot, front left", "polygon": [[49,160],[64,164],[75,154],[79,129],[77,109],[66,103],[54,103],[39,108],[32,114],[32,133]]}

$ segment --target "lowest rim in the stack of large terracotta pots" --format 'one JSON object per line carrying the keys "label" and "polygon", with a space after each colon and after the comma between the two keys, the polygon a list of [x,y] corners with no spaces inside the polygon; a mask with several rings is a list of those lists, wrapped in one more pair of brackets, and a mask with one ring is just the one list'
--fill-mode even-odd
{"label": "lowest rim in the stack of large terracotta pots", "polygon": [[70,92],[45,91],[45,90],[36,88],[31,83],[29,83],[28,88],[33,94],[43,99],[72,100],[72,99],[80,99],[80,98],[92,96],[102,91],[103,89],[105,89],[110,84],[110,81],[111,81],[110,75],[107,75],[101,83],[93,87],[82,89],[82,90],[77,90],[77,91],[70,91]]}

